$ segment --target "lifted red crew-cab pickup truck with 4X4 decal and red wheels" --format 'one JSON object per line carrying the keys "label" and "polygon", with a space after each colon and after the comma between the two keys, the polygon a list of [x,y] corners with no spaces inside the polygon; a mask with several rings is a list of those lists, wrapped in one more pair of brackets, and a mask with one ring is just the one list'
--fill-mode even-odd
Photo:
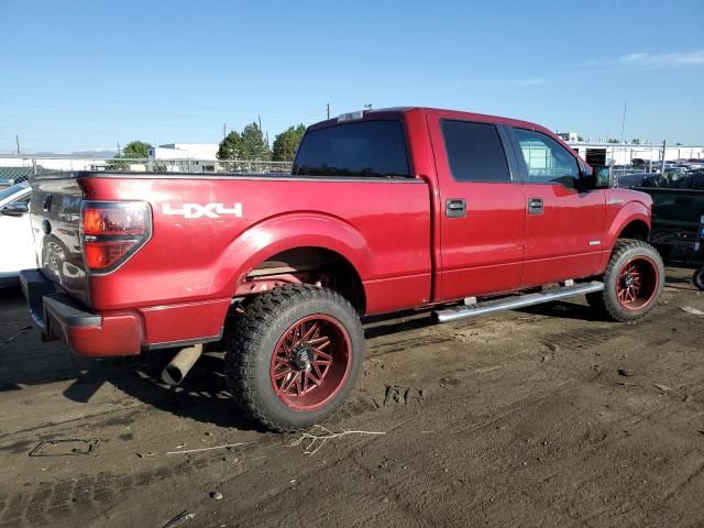
{"label": "lifted red crew-cab pickup truck with 4X4 decal and red wheels", "polygon": [[88,356],[180,349],[175,383],[219,341],[238,411],[274,430],[342,405],[362,316],[586,294],[629,321],[663,286],[650,198],[513,119],[354,112],[310,127],[287,176],[80,172],[32,188],[41,267],[21,279],[45,338]]}

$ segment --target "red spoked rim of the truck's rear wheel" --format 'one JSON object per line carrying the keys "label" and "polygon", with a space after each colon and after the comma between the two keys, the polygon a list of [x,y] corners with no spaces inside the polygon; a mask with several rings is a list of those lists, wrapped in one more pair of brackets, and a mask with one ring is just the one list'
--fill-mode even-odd
{"label": "red spoked rim of the truck's rear wheel", "polygon": [[352,341],[340,321],[322,314],[304,317],[274,348],[272,386],[292,409],[319,409],[344,386],[351,358]]}

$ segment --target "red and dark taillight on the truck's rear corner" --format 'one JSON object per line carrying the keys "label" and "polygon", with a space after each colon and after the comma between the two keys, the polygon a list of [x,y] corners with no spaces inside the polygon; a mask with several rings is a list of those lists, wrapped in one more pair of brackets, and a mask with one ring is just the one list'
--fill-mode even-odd
{"label": "red and dark taillight on the truck's rear corner", "polygon": [[84,201],[80,234],[89,270],[108,273],[152,235],[152,210],[144,201]]}

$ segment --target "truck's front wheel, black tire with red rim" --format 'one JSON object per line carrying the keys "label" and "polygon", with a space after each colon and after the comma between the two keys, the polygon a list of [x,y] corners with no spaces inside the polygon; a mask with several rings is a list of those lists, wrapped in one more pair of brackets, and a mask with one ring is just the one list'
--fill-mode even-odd
{"label": "truck's front wheel, black tire with red rim", "polygon": [[[632,266],[636,266],[634,273],[628,273]],[[640,285],[638,294],[630,289],[636,275]],[[586,296],[590,306],[610,320],[634,321],[658,304],[664,286],[662,258],[647,242],[622,239],[614,246],[603,280],[603,292]]]}

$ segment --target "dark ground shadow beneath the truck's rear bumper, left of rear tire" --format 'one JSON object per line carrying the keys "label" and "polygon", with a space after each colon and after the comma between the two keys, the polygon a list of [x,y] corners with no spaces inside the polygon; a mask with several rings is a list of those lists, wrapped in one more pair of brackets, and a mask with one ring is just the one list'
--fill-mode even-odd
{"label": "dark ground shadow beneath the truck's rear bumper, left of rear tire", "polygon": [[19,288],[0,290],[0,396],[26,391],[32,397],[41,386],[61,383],[67,385],[62,392],[67,399],[90,406],[109,383],[165,413],[220,427],[261,430],[238,415],[228,393],[222,353],[205,353],[182,385],[172,387],[161,381],[161,372],[175,351],[92,360],[73,354],[65,344],[43,343]]}

